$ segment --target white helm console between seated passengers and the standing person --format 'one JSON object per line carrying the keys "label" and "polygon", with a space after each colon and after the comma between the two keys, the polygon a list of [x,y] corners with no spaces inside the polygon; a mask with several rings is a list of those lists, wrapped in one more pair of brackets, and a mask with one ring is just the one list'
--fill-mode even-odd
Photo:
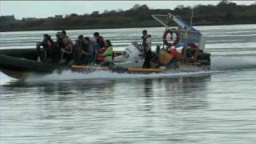
{"label": "white helm console between seated passengers and the standing person", "polygon": [[138,42],[132,42],[126,47],[122,55],[114,58],[114,66],[124,68],[128,67],[142,67],[144,62],[144,52],[142,46]]}

